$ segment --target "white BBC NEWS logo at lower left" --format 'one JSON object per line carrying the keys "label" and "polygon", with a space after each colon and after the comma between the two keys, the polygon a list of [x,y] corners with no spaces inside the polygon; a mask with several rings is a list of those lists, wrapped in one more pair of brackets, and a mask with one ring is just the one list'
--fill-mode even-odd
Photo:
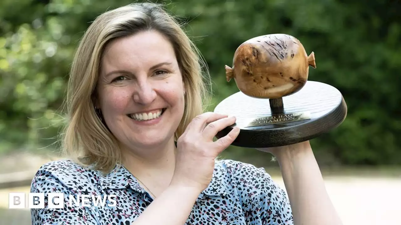
{"label": "white BBC NEWS logo at lower left", "polygon": [[[26,199],[25,193],[10,193],[8,200],[9,209],[44,209],[45,208],[45,193],[28,193]],[[69,207],[114,207],[117,205],[117,197],[115,195],[69,195]],[[47,208],[49,209],[63,209],[66,204],[64,201],[64,193],[48,193],[46,199]],[[106,200],[109,203],[106,204]],[[67,202],[66,202],[67,203]]]}

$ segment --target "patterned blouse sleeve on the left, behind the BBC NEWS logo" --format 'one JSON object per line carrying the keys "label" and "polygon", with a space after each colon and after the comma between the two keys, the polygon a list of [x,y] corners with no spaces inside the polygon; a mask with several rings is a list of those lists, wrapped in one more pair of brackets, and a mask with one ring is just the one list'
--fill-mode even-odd
{"label": "patterned blouse sleeve on the left, behind the BBC NEWS logo", "polygon": [[[59,173],[55,168],[43,165],[32,180],[30,192],[45,195],[43,208],[31,208],[32,225],[99,225],[95,207],[75,206],[74,202],[70,206],[69,196],[75,196],[76,199],[75,190],[69,186],[67,174]],[[49,194],[54,193],[63,194],[61,209],[49,208]],[[57,204],[56,200],[53,202]]]}

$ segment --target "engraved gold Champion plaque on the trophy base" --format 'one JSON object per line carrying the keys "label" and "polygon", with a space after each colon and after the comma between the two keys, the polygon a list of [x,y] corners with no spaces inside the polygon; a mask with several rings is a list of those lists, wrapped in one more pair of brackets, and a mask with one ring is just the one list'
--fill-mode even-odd
{"label": "engraved gold Champion plaque on the trophy base", "polygon": [[258,127],[275,123],[287,123],[292,121],[302,121],[310,119],[310,112],[296,112],[281,115],[274,115],[270,117],[259,117],[252,120],[246,127]]}

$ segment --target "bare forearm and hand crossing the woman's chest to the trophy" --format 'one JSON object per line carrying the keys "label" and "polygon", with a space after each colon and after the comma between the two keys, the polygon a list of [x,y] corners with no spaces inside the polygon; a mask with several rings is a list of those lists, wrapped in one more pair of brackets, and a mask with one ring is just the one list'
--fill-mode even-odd
{"label": "bare forearm and hand crossing the woman's chest to the trophy", "polygon": [[235,123],[234,117],[206,112],[191,121],[177,141],[174,175],[170,186],[158,196],[133,225],[182,225],[188,219],[199,194],[208,187],[215,159],[238,136],[233,129],[213,141],[218,131]]}

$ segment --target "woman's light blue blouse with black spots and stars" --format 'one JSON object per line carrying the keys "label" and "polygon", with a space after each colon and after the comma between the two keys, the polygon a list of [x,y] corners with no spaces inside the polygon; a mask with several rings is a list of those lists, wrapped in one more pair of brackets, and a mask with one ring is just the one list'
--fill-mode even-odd
{"label": "woman's light blue blouse with black spots and stars", "polygon": [[[124,167],[106,176],[69,160],[53,161],[36,173],[31,193],[45,193],[45,207],[31,209],[34,225],[129,225],[152,203],[152,197]],[[64,208],[48,207],[48,193],[63,193]],[[70,206],[69,195],[114,194],[116,204]],[[110,206],[108,205],[110,204]],[[174,205],[172,205],[174,207]],[[263,168],[232,160],[216,161],[213,179],[200,193],[186,225],[289,225],[292,211],[286,193]]]}

